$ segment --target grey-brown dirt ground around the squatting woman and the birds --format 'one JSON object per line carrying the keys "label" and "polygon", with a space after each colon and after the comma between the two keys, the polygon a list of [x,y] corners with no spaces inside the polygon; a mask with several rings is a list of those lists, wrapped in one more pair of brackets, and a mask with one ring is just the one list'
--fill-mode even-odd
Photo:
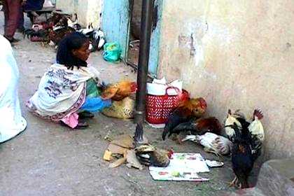
{"label": "grey-brown dirt ground around the squatting woman and the birds", "polygon": [[[3,17],[1,34],[3,34]],[[87,130],[70,130],[31,115],[25,102],[34,94],[45,69],[55,61],[55,50],[41,43],[33,43],[21,34],[15,45],[15,57],[20,69],[20,99],[23,116],[28,126],[15,139],[0,144],[0,195],[218,195],[228,188],[233,179],[230,158],[224,167],[211,169],[207,183],[153,181],[148,168],[143,171],[125,165],[109,169],[102,160],[108,144],[104,140],[110,132],[116,135],[134,132],[132,121],[117,120],[97,115],[89,120]],[[102,73],[106,82],[123,78],[136,79],[136,73],[125,64],[104,62],[100,52],[92,53],[90,64]],[[161,140],[162,130],[146,125],[149,141],[162,148],[173,147],[176,152],[201,153],[204,158],[218,160],[204,153],[190,142],[182,145],[168,139]]]}

